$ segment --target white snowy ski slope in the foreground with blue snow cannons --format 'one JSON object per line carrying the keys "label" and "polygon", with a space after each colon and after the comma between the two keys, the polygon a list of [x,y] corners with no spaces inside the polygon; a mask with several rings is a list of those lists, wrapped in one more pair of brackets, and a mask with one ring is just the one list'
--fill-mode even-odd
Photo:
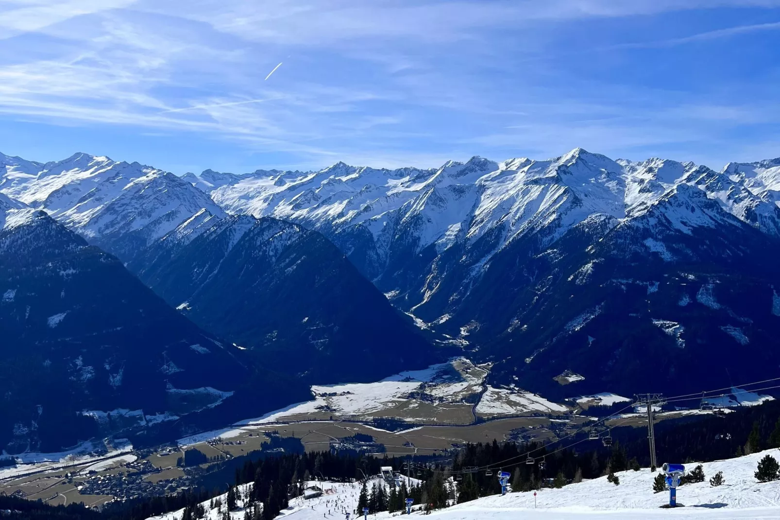
{"label": "white snowy ski slope in the foreground with blue snow cannons", "polygon": [[[619,518],[685,518],[718,519],[727,518],[780,518],[780,481],[757,483],[753,477],[758,461],[765,454],[780,458],[780,450],[768,450],[725,461],[704,463],[706,479],[703,483],[686,484],[677,491],[677,500],[684,508],[669,510],[661,508],[668,503],[668,492],[653,493],[654,473],[648,468],[638,472],[629,470],[616,475],[619,486],[608,483],[606,477],[569,484],[561,489],[493,495],[451,508],[434,511],[431,518],[438,520],[506,520],[523,518],[550,520],[588,518],[589,520],[616,520]],[[693,469],[696,464],[686,465]],[[723,472],[725,483],[711,487],[709,478],[716,472]],[[379,483],[381,480],[374,479]],[[360,493],[359,484],[321,483],[325,493],[318,498],[290,501],[290,507],[277,518],[289,520],[342,520],[345,511],[354,511]],[[371,485],[369,486],[371,488]],[[535,500],[535,504],[534,504]],[[223,497],[224,501],[224,497]],[[205,503],[207,504],[207,503]],[[182,511],[175,511],[157,520],[178,520]],[[421,515],[413,511],[413,515]],[[385,520],[399,513],[381,512],[369,515],[370,520]],[[217,511],[210,511],[208,520],[218,520]],[[235,511],[232,518],[240,520],[243,511]],[[354,518],[354,515],[353,515]]]}

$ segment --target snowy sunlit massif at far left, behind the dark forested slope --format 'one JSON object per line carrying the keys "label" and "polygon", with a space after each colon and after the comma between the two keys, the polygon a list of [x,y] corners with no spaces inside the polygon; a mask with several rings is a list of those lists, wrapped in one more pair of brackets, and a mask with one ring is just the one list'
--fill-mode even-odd
{"label": "snowy sunlit massif at far left, behind the dark forested slope", "polygon": [[225,216],[179,176],[83,153],[47,163],[0,154],[0,191],[44,209],[120,257],[132,256],[200,209]]}

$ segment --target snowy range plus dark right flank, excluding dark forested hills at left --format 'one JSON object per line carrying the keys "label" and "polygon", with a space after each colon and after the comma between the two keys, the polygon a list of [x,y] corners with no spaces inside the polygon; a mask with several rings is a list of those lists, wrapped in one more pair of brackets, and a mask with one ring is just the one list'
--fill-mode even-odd
{"label": "snowy range plus dark right flank, excluding dark forested hills at left", "polygon": [[[553,399],[651,391],[683,372],[692,388],[718,386],[725,360],[743,351],[752,359],[729,366],[736,379],[780,365],[771,332],[780,325],[780,159],[715,171],[576,148],[438,169],[339,162],[178,177],[83,154],[47,164],[0,155],[0,192],[118,255],[158,292],[174,278],[154,269],[180,265],[202,278],[191,244],[211,244],[212,255],[256,226],[228,215],[295,223],[327,237],[420,328],[494,362],[491,384]],[[161,269],[160,258],[184,250],[186,267]],[[300,281],[288,268],[317,251],[296,254],[269,268],[292,298],[307,287],[292,287]],[[211,275],[239,276],[209,269],[203,287],[216,283]]]}

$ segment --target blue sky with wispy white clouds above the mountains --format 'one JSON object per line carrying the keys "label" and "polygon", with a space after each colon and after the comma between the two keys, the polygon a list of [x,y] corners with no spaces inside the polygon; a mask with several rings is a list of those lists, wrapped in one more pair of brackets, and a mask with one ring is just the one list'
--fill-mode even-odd
{"label": "blue sky with wispy white clouds above the mountains", "polygon": [[0,151],[39,161],[719,169],[778,121],[780,0],[0,0]]}

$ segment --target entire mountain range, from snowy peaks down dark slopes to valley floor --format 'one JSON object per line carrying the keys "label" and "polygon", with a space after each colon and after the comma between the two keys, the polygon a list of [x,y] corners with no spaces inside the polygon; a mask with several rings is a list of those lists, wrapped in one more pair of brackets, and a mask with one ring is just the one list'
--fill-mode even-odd
{"label": "entire mountain range, from snowy peaks down dark slopes to valley floor", "polygon": [[0,154],[0,229],[9,453],[183,435],[453,356],[551,401],[780,366],[780,159],[176,176]]}

